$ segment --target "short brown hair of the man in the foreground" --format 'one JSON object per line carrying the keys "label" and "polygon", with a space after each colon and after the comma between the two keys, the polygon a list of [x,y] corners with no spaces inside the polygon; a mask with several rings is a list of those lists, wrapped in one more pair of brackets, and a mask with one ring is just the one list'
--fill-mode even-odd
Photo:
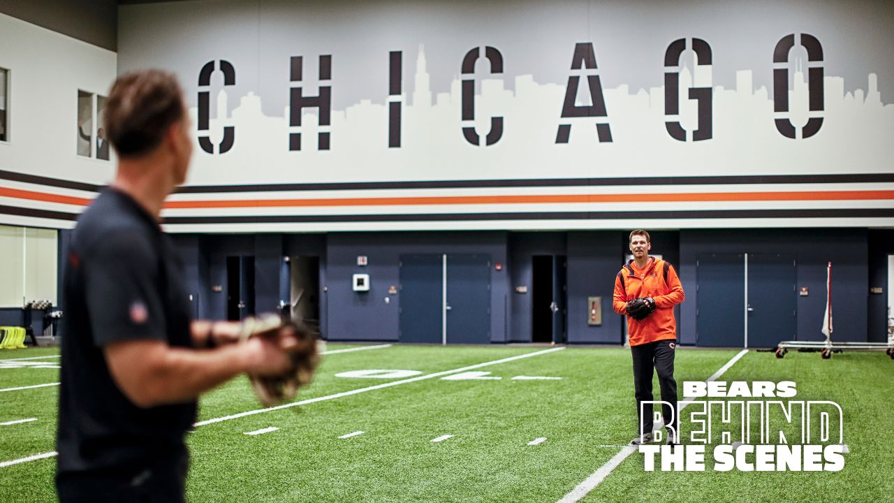
{"label": "short brown hair of the man in the foreground", "polygon": [[119,157],[146,154],[161,144],[171,124],[183,117],[183,110],[183,91],[173,73],[124,73],[112,84],[105,103],[105,138]]}

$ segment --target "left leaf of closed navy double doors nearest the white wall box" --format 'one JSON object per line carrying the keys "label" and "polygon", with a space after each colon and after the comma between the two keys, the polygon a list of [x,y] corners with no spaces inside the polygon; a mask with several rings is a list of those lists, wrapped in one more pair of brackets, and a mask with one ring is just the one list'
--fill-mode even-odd
{"label": "left leaf of closed navy double doors nearest the white wall box", "polygon": [[443,255],[401,255],[401,342],[443,342]]}

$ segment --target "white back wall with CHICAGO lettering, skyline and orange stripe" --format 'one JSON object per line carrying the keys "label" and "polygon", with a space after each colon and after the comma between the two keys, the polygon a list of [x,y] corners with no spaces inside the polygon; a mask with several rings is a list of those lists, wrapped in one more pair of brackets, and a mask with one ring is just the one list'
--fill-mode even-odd
{"label": "white back wall with CHICAGO lettering, skyline and orange stripe", "polygon": [[[209,93],[208,129],[197,127],[197,137],[218,145],[234,127],[223,153],[197,142],[187,181],[212,188],[172,196],[162,214],[172,232],[890,226],[894,72],[882,47],[894,41],[884,24],[892,4],[739,4],[128,4],[119,10],[119,65],[175,72],[196,124],[199,93]],[[774,64],[780,39],[802,33],[821,42],[822,62],[808,61],[798,43],[788,63]],[[690,47],[691,38],[710,43],[712,63],[695,66],[687,50],[665,68],[665,51],[680,38]],[[594,68],[571,68],[581,42],[593,44]],[[474,65],[474,119],[464,120],[462,81],[470,77],[461,63],[481,46],[500,51],[502,71],[491,74],[486,59]],[[391,51],[402,54],[400,95],[389,86]],[[331,55],[322,79],[319,55]],[[299,82],[291,81],[293,56],[303,58]],[[221,71],[199,85],[201,69],[215,61],[232,64],[232,85]],[[810,110],[808,85],[819,65],[822,113]],[[773,74],[783,67],[790,113],[775,112]],[[679,113],[664,107],[665,70],[679,70]],[[601,79],[607,116],[561,117],[569,76],[583,75]],[[331,86],[331,124],[304,108],[301,125],[292,125],[291,89],[315,96],[321,85]],[[691,140],[698,114],[690,88],[712,90],[710,140],[682,142],[666,130],[666,121],[679,121]],[[589,103],[583,87],[577,96]],[[392,148],[394,102],[401,146]],[[800,128],[820,115],[822,128],[806,139],[787,138],[774,122]],[[484,134],[492,116],[504,119],[500,141],[469,144],[462,128]],[[603,123],[611,142],[596,137]],[[571,126],[568,143],[556,142],[560,124]],[[295,132],[299,150],[290,149]],[[329,149],[317,149],[318,132],[330,134]],[[616,183],[603,184],[610,179]]]}

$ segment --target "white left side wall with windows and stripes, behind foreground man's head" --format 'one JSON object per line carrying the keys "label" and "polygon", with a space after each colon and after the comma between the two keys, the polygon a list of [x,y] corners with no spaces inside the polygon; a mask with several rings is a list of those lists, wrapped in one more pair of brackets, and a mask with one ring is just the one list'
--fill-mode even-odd
{"label": "white left side wall with windows and stripes, behind foreground man's head", "polygon": [[[106,95],[117,54],[0,14],[0,67],[10,70],[10,137],[0,142],[0,170],[103,184],[114,160],[77,156],[78,90]],[[91,192],[12,182],[0,188],[92,198]],[[8,193],[7,193],[8,195]],[[0,205],[80,213],[82,206],[0,196]],[[0,213],[0,224],[72,227],[73,222]]]}

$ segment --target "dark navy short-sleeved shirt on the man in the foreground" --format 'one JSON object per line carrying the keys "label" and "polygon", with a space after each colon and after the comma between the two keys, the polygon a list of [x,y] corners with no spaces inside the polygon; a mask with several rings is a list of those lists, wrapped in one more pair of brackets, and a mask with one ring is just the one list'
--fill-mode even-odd
{"label": "dark navy short-sleeved shirt on the man in the foreground", "polygon": [[129,195],[106,188],[78,220],[63,281],[59,475],[127,478],[186,456],[183,437],[195,421],[195,401],[134,405],[103,353],[120,341],[191,345],[190,305],[173,243]]}

